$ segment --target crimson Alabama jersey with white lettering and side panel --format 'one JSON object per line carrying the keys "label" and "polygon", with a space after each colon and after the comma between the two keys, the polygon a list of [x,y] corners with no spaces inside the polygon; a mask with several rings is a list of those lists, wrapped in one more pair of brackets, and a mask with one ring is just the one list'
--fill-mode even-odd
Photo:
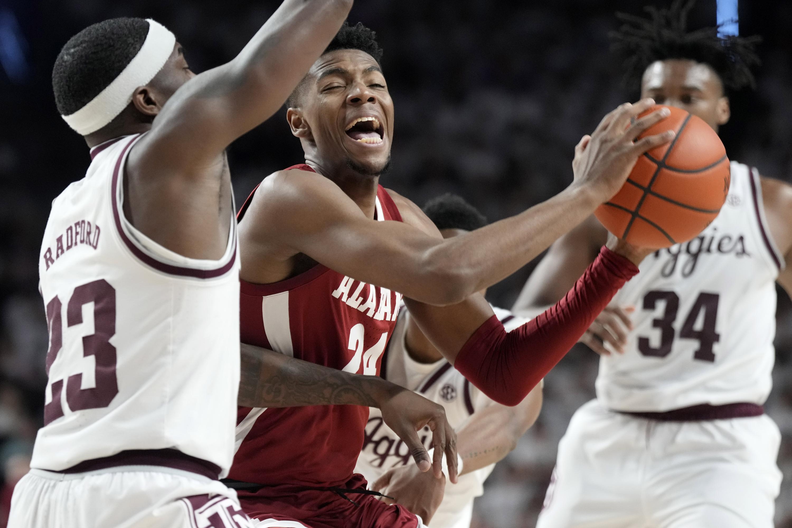
{"label": "crimson Alabama jersey with white lettering and side panel", "polygon": [[[290,169],[315,172],[308,165]],[[402,221],[382,186],[376,219]],[[280,283],[241,282],[243,343],[346,372],[379,374],[401,294],[321,264]],[[344,484],[363,447],[367,420],[368,408],[356,405],[240,407],[229,477],[258,484]]]}

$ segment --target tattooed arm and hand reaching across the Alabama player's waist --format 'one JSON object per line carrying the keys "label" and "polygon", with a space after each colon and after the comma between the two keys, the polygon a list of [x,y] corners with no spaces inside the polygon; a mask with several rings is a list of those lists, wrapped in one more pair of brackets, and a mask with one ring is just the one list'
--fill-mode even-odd
{"label": "tattooed arm and hand reaching across the Alabama player's waist", "polygon": [[[456,481],[456,434],[448,424],[445,409],[420,394],[386,382],[377,376],[349,374],[341,370],[290,358],[283,354],[242,344],[242,370],[238,405],[242,407],[303,407],[306,405],[364,405],[375,407],[383,420],[409,447],[422,472],[434,469],[441,477],[445,452]],[[417,431],[432,430],[434,460],[425,450]],[[445,451],[440,446],[446,446]]]}

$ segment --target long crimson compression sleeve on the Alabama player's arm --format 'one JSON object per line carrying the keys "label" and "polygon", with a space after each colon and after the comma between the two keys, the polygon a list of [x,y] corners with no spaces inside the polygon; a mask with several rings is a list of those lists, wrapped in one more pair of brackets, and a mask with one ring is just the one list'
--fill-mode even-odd
{"label": "long crimson compression sleeve on the Alabama player's arm", "polygon": [[454,367],[502,405],[517,405],[561,361],[638,268],[603,247],[575,286],[555,306],[512,332],[497,316],[481,325]]}

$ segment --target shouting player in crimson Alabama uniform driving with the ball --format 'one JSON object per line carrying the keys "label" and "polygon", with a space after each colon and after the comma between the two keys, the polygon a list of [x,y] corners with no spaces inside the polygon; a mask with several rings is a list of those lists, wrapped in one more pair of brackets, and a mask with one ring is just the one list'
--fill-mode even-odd
{"label": "shouting player in crimson Alabama uniform driving with the ball", "polygon": [[[638,156],[672,134],[634,142],[664,114],[630,126],[653,101],[625,104],[578,146],[568,190],[444,241],[420,208],[379,186],[394,115],[380,55],[369,29],[345,26],[291,95],[287,119],[307,163],[266,178],[240,211],[242,341],[330,371],[376,375],[403,294],[411,317],[460,373],[493,400],[516,405],[649,252],[614,239],[565,300],[513,332],[475,292],[515,272],[613,196]],[[352,474],[367,408],[264,407],[240,408],[230,472],[250,485],[239,495],[259,526],[421,522],[365,496],[364,479]],[[435,462],[453,444],[441,439]],[[456,458],[447,465],[455,482]]]}

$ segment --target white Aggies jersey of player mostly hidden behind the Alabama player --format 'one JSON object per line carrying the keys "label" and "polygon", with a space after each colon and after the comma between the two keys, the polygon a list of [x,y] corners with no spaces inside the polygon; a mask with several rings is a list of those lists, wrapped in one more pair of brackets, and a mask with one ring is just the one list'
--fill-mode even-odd
{"label": "white Aggies jersey of player mostly hidden behind the Alabama player", "polygon": [[[524,325],[527,319],[515,317],[507,310],[494,308],[498,319],[507,332]],[[448,424],[455,431],[461,430],[474,412],[493,405],[482,391],[468,382],[459,371],[445,359],[436,363],[417,363],[410,358],[405,348],[406,327],[409,312],[402,310],[383,357],[383,378],[406,389],[413,390],[428,400],[443,405]],[[428,427],[419,432],[421,441],[432,446],[432,434]],[[412,464],[412,455],[407,446],[390,427],[383,423],[378,408],[371,408],[366,425],[363,450],[357,459],[355,472],[366,477],[369,484],[377,480],[388,469]],[[483,484],[494,464],[459,477],[457,484],[446,482],[443,502],[434,517],[432,528],[466,528],[473,514],[473,500],[484,492]]]}

